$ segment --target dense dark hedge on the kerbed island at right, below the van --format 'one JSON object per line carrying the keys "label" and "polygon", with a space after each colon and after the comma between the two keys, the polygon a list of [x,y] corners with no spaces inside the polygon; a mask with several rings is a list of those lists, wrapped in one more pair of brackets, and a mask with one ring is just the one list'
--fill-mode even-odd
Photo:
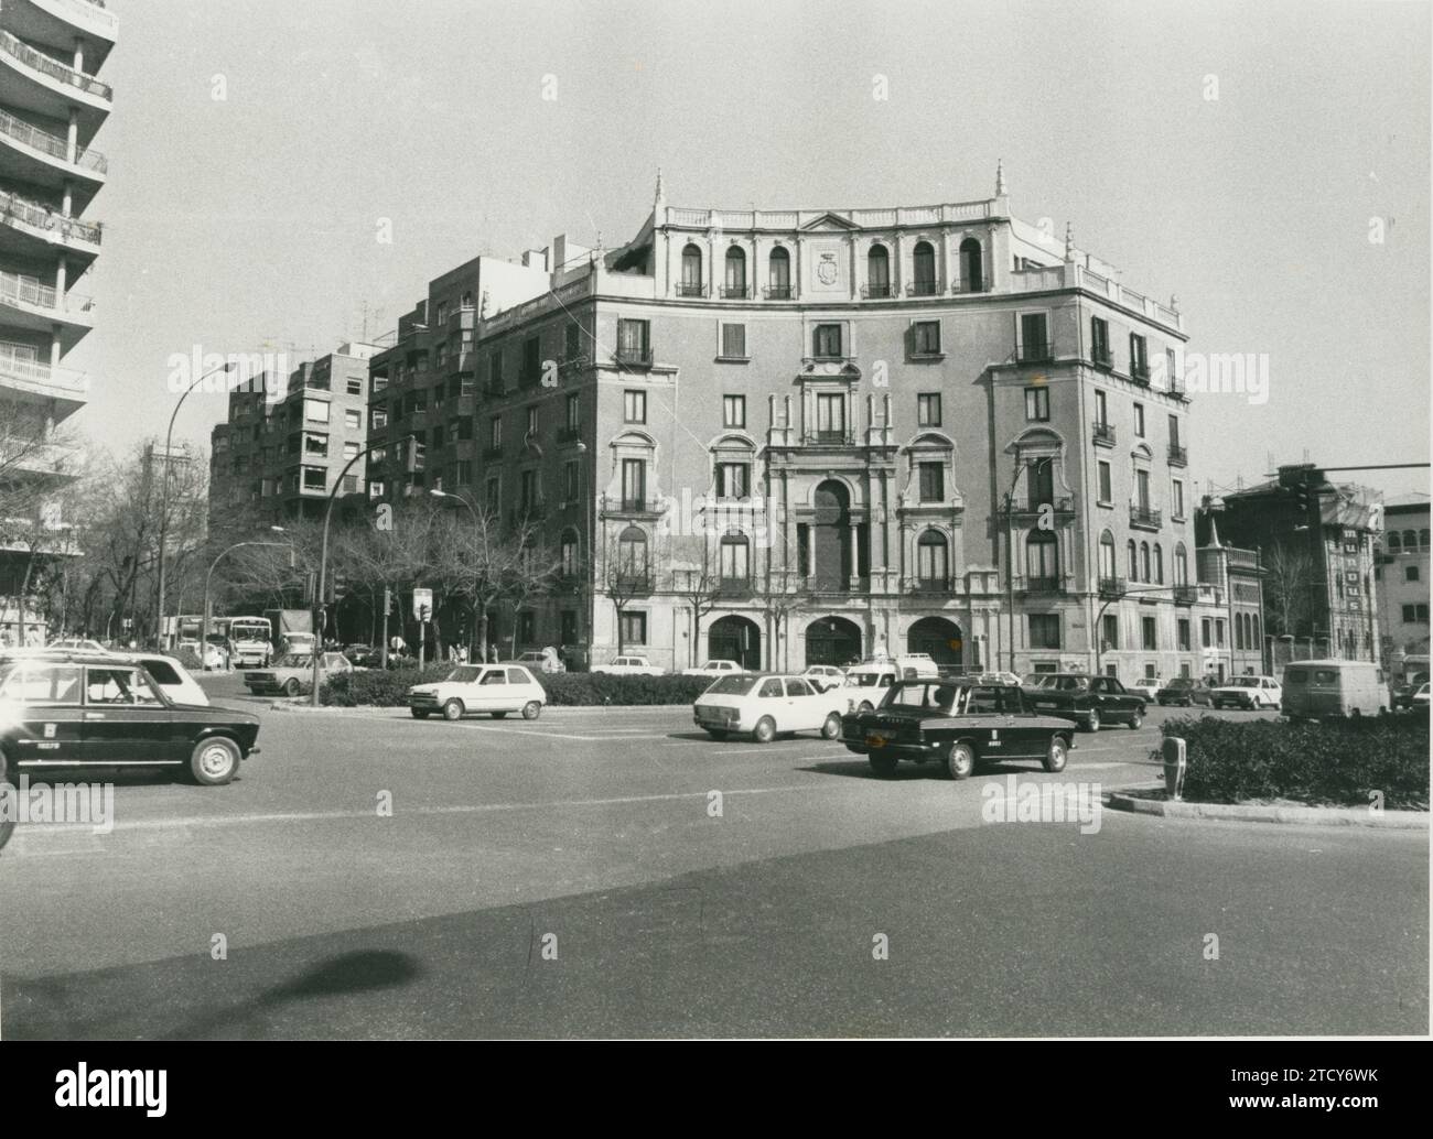
{"label": "dense dark hedge on the kerbed island at right, below the van", "polygon": [[1426,713],[1318,724],[1179,716],[1164,735],[1188,744],[1184,797],[1194,802],[1369,807],[1377,791],[1389,809],[1429,809]]}

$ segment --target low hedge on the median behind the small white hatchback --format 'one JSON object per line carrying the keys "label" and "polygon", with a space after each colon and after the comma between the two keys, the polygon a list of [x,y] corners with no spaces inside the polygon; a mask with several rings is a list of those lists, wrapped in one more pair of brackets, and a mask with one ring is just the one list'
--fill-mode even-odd
{"label": "low hedge on the median behind the small white hatchback", "polygon": [[[322,703],[338,708],[354,705],[401,708],[413,685],[441,681],[451,668],[444,663],[421,672],[370,669],[345,673],[328,681],[318,698]],[[547,703],[553,706],[692,703],[712,682],[711,676],[609,676],[600,672],[546,675],[535,671],[533,676],[547,692]]]}

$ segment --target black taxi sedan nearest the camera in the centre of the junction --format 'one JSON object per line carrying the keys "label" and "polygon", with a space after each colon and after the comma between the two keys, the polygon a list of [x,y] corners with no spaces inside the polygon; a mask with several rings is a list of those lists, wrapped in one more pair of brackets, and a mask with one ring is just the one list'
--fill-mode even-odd
{"label": "black taxi sedan nearest the camera in the centre of the junction", "polygon": [[841,716],[841,742],[878,775],[914,759],[964,779],[982,761],[1039,759],[1063,771],[1075,728],[1032,712],[1015,685],[924,678],[897,681],[873,711]]}

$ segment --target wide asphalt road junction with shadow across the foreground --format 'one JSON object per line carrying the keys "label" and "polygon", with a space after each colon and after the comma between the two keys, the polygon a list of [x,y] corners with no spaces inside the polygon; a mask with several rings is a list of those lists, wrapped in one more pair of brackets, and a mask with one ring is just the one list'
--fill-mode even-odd
{"label": "wide asphalt road junction with shadow across the foreground", "polygon": [[983,818],[1156,778],[1161,711],[952,782],[686,709],[245,706],[229,787],[17,830],[6,1039],[1427,1032],[1427,834]]}

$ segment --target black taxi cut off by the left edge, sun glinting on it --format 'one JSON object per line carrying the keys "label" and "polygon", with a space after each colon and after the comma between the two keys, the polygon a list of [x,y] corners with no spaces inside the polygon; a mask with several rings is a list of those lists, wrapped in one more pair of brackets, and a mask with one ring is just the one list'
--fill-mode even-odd
{"label": "black taxi cut off by the left edge, sun glinting on it", "polygon": [[106,653],[0,655],[0,761],[16,784],[44,768],[172,768],[229,782],[258,752],[251,712],[175,703],[143,665]]}

